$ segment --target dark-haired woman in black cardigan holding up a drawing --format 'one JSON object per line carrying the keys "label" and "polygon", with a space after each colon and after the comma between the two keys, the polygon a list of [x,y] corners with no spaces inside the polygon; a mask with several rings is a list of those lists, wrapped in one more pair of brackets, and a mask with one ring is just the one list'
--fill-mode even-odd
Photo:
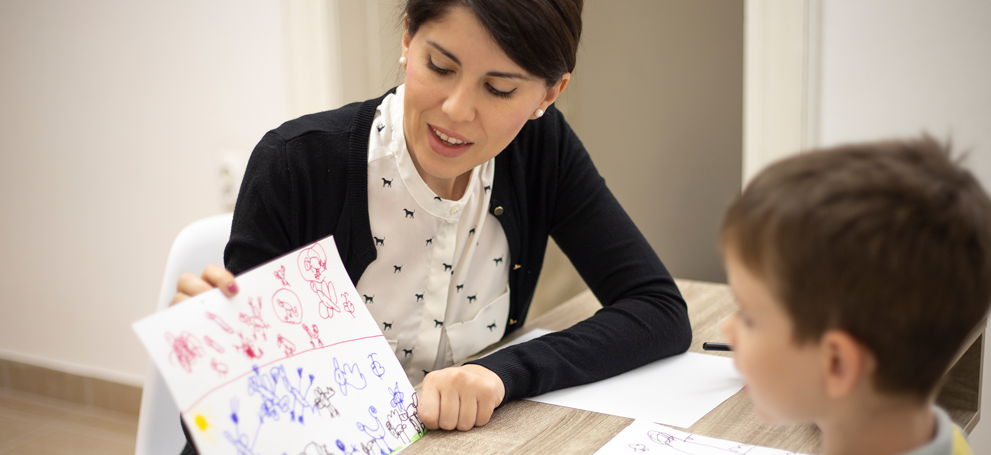
{"label": "dark-haired woman in black cardigan holding up a drawing", "polygon": [[[409,0],[384,96],[268,133],[245,174],[227,269],[334,234],[431,429],[505,400],[685,351],[685,302],[553,102],[575,66],[581,0]],[[553,235],[605,305],[574,327],[459,368],[525,319]],[[176,301],[231,272],[184,276]],[[428,374],[429,373],[429,374]]]}

